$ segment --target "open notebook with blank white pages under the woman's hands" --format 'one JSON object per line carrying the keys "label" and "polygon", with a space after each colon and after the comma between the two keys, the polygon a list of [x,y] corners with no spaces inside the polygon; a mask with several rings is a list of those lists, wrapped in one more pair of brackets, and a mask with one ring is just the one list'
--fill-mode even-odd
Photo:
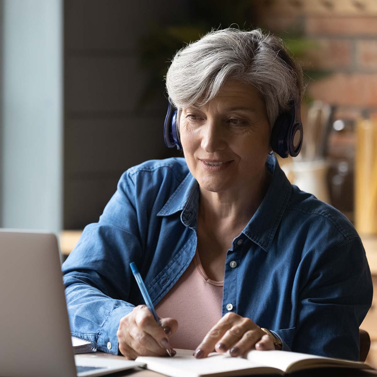
{"label": "open notebook with blank white pages under the woman's hands", "polygon": [[139,356],[136,361],[146,363],[146,368],[171,377],[215,377],[251,374],[291,373],[310,368],[373,369],[363,362],[333,359],[287,351],[249,351],[244,357],[211,353],[205,359],[195,359],[193,351],[176,350],[174,357]]}

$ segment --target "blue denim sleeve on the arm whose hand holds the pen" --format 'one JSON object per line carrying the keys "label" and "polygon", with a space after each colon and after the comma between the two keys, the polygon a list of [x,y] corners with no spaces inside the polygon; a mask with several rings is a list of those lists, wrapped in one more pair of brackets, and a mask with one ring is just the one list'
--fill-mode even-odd
{"label": "blue denim sleeve on the arm whose hand holds the pen", "polygon": [[87,225],[62,265],[72,334],[118,353],[116,331],[130,313],[130,262],[143,258],[132,179],[125,172],[98,223]]}

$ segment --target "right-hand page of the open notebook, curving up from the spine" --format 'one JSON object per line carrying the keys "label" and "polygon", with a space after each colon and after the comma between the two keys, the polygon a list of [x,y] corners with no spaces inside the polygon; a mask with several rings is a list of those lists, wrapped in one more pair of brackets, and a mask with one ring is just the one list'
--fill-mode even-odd
{"label": "right-hand page of the open notebook, curving up from the spine", "polygon": [[315,356],[291,351],[250,351],[246,355],[251,362],[258,362],[285,372],[293,372],[308,368],[325,368],[339,366],[345,368],[371,369],[363,362],[334,359],[332,357]]}

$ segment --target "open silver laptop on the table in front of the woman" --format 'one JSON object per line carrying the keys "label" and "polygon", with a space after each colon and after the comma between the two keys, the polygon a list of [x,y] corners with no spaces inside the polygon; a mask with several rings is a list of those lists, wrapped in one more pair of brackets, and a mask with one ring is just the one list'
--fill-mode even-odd
{"label": "open silver laptop on the table in front of the woman", "polygon": [[0,375],[99,376],[143,366],[102,352],[74,355],[57,238],[0,230]]}

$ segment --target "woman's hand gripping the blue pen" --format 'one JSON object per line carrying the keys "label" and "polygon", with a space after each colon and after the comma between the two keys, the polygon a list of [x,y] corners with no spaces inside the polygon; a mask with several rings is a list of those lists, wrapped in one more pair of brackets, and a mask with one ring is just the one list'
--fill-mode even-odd
{"label": "woman's hand gripping the blue pen", "polygon": [[121,318],[116,332],[121,354],[128,360],[138,356],[167,356],[168,348],[174,356],[176,352],[170,347],[168,337],[177,331],[178,322],[173,318],[163,318],[160,322],[162,327],[146,305],[133,308]]}

